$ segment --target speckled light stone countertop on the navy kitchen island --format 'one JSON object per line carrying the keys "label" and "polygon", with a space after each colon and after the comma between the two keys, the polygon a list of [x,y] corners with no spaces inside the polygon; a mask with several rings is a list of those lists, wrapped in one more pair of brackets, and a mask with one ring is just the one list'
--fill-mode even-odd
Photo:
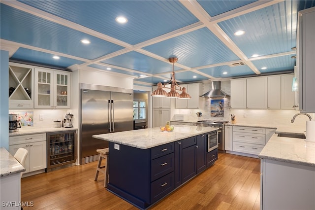
{"label": "speckled light stone countertop on the navy kitchen island", "polygon": [[148,149],[165,143],[186,139],[216,130],[218,130],[218,128],[174,125],[173,132],[162,132],[160,131],[159,127],[155,127],[133,131],[94,135],[93,138],[107,140],[110,142],[132,146],[140,149]]}

